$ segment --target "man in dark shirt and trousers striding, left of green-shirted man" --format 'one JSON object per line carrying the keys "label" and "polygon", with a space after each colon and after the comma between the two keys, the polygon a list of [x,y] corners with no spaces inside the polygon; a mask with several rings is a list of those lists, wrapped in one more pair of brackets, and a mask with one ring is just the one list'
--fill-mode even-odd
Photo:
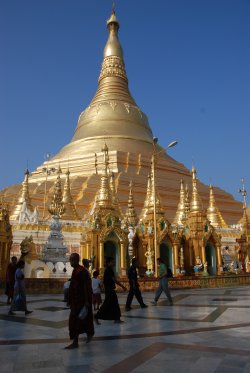
{"label": "man in dark shirt and trousers striding, left of green-shirted man", "polygon": [[129,279],[129,293],[127,297],[127,302],[125,306],[125,311],[130,311],[131,310],[131,303],[134,298],[136,297],[138,303],[140,304],[141,308],[147,308],[147,305],[144,304],[142,295],[140,292],[140,286],[138,283],[138,278],[137,278],[137,260],[136,258],[132,259],[131,266],[128,270],[128,279]]}

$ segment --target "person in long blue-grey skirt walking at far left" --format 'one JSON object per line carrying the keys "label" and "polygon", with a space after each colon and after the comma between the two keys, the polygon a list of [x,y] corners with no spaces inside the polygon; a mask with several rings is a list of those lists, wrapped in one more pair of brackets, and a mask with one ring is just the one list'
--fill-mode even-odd
{"label": "person in long blue-grey skirt walking at far left", "polygon": [[27,309],[24,274],[23,274],[25,262],[23,260],[19,260],[16,266],[17,266],[17,269],[15,272],[14,294],[13,294],[13,300],[12,300],[8,315],[14,316],[15,315],[14,311],[24,311],[25,315],[29,315],[33,311],[29,311]]}

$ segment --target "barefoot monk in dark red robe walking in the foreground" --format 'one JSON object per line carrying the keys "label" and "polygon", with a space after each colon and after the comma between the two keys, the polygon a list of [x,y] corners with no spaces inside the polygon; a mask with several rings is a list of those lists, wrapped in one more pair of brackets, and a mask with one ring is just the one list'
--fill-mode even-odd
{"label": "barefoot monk in dark red robe walking in the foreground", "polygon": [[[87,334],[86,343],[89,343],[95,334],[90,274],[86,268],[79,264],[79,254],[71,254],[69,260],[71,267],[74,268],[69,286],[69,336],[73,342],[65,349],[78,348],[79,334]],[[84,306],[87,308],[87,315],[84,319],[80,319],[79,314]]]}

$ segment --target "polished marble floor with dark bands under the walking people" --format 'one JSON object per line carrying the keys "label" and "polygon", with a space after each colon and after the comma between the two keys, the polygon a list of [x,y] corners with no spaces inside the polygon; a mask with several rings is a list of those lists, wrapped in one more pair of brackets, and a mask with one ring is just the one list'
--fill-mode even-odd
{"label": "polished marble floor with dark bands under the walking people", "polygon": [[0,372],[147,373],[250,372],[250,287],[172,291],[174,305],[162,295],[148,308],[136,300],[124,324],[102,321],[86,344],[69,344],[69,310],[62,295],[29,295],[28,316],[8,316],[0,296]]}

